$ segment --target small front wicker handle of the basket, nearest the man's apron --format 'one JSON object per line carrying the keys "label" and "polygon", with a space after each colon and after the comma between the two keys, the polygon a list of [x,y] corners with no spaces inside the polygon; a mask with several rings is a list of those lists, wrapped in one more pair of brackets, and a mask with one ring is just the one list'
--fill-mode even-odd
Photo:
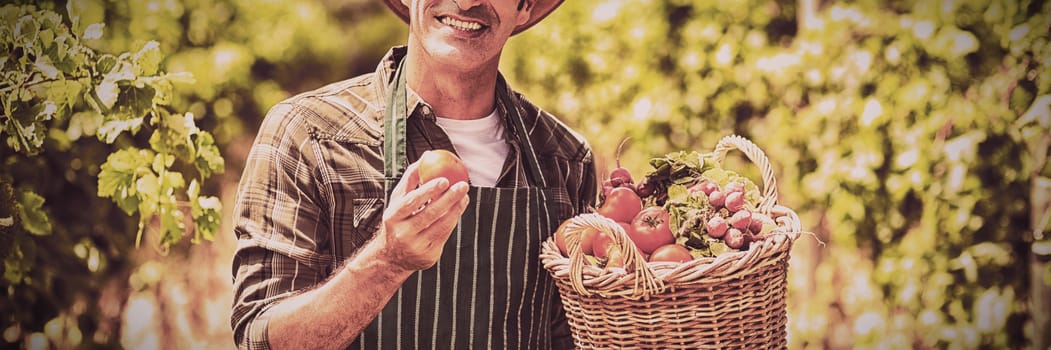
{"label": "small front wicker handle of the basket, nearest the man's apron", "polygon": [[[570,258],[570,284],[573,289],[582,295],[592,295],[594,292],[583,284],[584,269],[589,266],[584,260],[584,253],[580,249],[580,235],[588,228],[597,229],[613,236],[613,243],[624,254],[624,272],[634,274],[634,285],[631,289],[624,288],[601,288],[592,286],[599,294],[604,296],[618,295],[637,300],[664,291],[664,282],[657,277],[653,270],[646,265],[645,259],[635,248],[635,244],[627,236],[617,222],[602,217],[599,213],[589,212],[569,219],[565,226],[565,245]],[[606,285],[605,287],[613,287]],[[602,290],[610,290],[603,292]]]}

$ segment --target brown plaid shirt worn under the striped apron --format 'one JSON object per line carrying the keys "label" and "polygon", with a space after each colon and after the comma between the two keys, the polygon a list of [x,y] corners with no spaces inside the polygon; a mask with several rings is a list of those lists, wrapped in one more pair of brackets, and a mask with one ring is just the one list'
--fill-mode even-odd
{"label": "brown plaid shirt worn under the striped apron", "polygon": [[[379,227],[384,189],[383,120],[386,90],[405,47],[391,49],[375,73],[304,92],[273,106],[245,164],[234,204],[234,339],[267,348],[266,310],[323,281]],[[578,133],[509,87],[541,171],[554,188],[559,220],[594,204],[597,184],[591,147]],[[497,99],[499,101],[500,99]],[[433,110],[410,94],[409,160],[427,149],[453,149]],[[502,112],[508,116],[507,112]],[[514,129],[498,187],[533,183],[523,169]],[[539,262],[523,262],[539,264]]]}

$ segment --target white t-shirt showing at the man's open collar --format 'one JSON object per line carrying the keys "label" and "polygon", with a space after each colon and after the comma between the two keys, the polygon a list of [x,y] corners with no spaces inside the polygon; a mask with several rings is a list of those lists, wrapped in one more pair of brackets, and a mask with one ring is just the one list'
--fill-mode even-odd
{"label": "white t-shirt showing at the man's open collar", "polygon": [[436,122],[449,135],[456,153],[467,165],[471,184],[496,186],[509,151],[503,138],[503,118],[499,112],[494,108],[492,114],[479,119],[436,118]]}

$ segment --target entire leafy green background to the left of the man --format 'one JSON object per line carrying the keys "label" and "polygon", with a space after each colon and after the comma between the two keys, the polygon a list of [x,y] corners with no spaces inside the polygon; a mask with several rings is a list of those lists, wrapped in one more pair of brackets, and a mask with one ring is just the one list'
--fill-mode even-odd
{"label": "entire leafy green background to the left of the man", "polygon": [[[8,161],[3,171],[9,173],[3,182],[5,205],[0,212],[0,219],[6,218],[0,220],[4,225],[0,236],[6,261],[3,271],[12,280],[15,275],[24,277],[24,283],[3,285],[8,292],[0,304],[5,344],[200,348],[230,342],[226,324],[232,243],[229,220],[218,220],[218,205],[232,200],[255,125],[267,108],[291,94],[316,87],[332,77],[374,68],[359,62],[374,64],[372,56],[382,55],[391,38],[404,36],[404,27],[391,21],[392,16],[385,17],[383,4],[372,1],[17,3],[25,6],[13,5],[21,13],[3,18],[5,28],[13,28],[26,16],[26,20],[38,22],[47,18],[48,25],[69,27],[68,34],[58,39],[65,45],[51,49],[73,50],[76,46],[90,53],[76,64],[84,70],[80,75],[96,80],[80,81],[82,77],[74,79],[71,75],[62,79],[83,85],[80,92],[90,97],[88,89],[102,91],[97,88],[99,79],[110,69],[101,65],[117,59],[124,62],[121,69],[130,69],[133,76],[118,75],[112,68],[111,82],[119,90],[112,102],[117,107],[111,109],[127,106],[132,108],[127,110],[149,111],[142,118],[99,111],[104,123],[89,114],[96,107],[92,100],[80,97],[55,117],[40,121],[44,125],[36,130],[46,130],[40,139],[42,151],[28,155],[0,146]],[[88,29],[90,24],[96,25]],[[2,33],[5,55],[22,55],[25,46],[41,47],[38,38],[26,39],[21,34],[16,38],[14,34],[14,29]],[[139,57],[148,57],[157,73],[136,70],[140,69]],[[39,74],[36,60],[19,66],[13,65],[15,60],[3,61],[4,86],[23,82],[14,79],[15,75]],[[34,91],[58,91],[53,87],[38,86]],[[146,97],[151,89],[153,100]],[[39,106],[42,99],[24,104]],[[33,116],[38,114],[33,111]],[[4,115],[9,114],[5,110]],[[111,128],[102,127],[110,120],[115,122]],[[127,128],[127,132],[121,133],[117,126]],[[213,144],[184,145],[180,140],[188,135],[195,143],[210,140]],[[6,140],[8,133],[0,136]],[[217,149],[222,149],[224,157],[212,152]],[[190,157],[193,150],[197,157]],[[148,160],[163,161],[143,161],[140,153],[144,151]],[[154,156],[149,157],[149,152]],[[163,152],[176,157],[156,156]],[[138,191],[135,186],[140,183],[152,183],[149,172],[166,179],[159,180],[159,186],[171,185],[173,189],[147,188],[158,193],[152,203],[163,204],[153,212],[163,210],[167,217],[142,211],[129,217],[123,208],[138,211],[150,201],[136,202],[135,197],[142,192],[125,198],[123,190]],[[108,182],[99,178],[135,186],[100,186]],[[23,194],[29,191],[39,197]],[[112,195],[117,201],[100,199],[110,192],[118,193]],[[204,199],[198,204],[209,207],[195,211],[190,199],[194,195]],[[18,218],[19,210],[27,212],[29,219],[49,223],[49,227],[38,226],[51,233],[28,232],[23,225],[29,221]],[[223,215],[229,215],[229,206],[223,210]],[[178,215],[182,222],[172,220]],[[199,223],[193,220],[208,225],[195,229]],[[186,231],[165,230],[180,223]],[[159,249],[135,249],[140,227],[145,233],[141,244]],[[217,231],[226,234],[220,234],[213,244],[188,245],[210,239]],[[179,241],[184,232],[199,240]],[[187,306],[187,301],[192,305]]]}

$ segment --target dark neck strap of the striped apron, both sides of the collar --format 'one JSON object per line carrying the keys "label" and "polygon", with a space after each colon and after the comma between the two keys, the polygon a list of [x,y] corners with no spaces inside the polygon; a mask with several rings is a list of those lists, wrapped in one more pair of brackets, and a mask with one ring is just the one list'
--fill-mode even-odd
{"label": "dark neck strap of the striped apron, both sides of the collar", "polygon": [[[384,121],[384,153],[386,155],[384,157],[384,176],[387,179],[400,178],[408,164],[405,130],[406,121],[409,119],[409,109],[406,106],[407,94],[404,71],[405,59],[403,58],[397,64],[394,80],[387,94],[386,119]],[[522,153],[526,157],[524,166],[537,185],[540,188],[547,188],[548,181],[544,179],[543,172],[540,171],[540,161],[537,159],[533,143],[530,141],[526,120],[522,118],[518,104],[512,101],[510,87],[502,76],[497,76],[497,88],[507,89],[502,91],[503,94],[497,94],[497,97],[503,103],[504,111],[511,114],[506,118],[512,120],[511,126],[514,127],[515,135],[518,136],[518,143],[522,146]]]}

